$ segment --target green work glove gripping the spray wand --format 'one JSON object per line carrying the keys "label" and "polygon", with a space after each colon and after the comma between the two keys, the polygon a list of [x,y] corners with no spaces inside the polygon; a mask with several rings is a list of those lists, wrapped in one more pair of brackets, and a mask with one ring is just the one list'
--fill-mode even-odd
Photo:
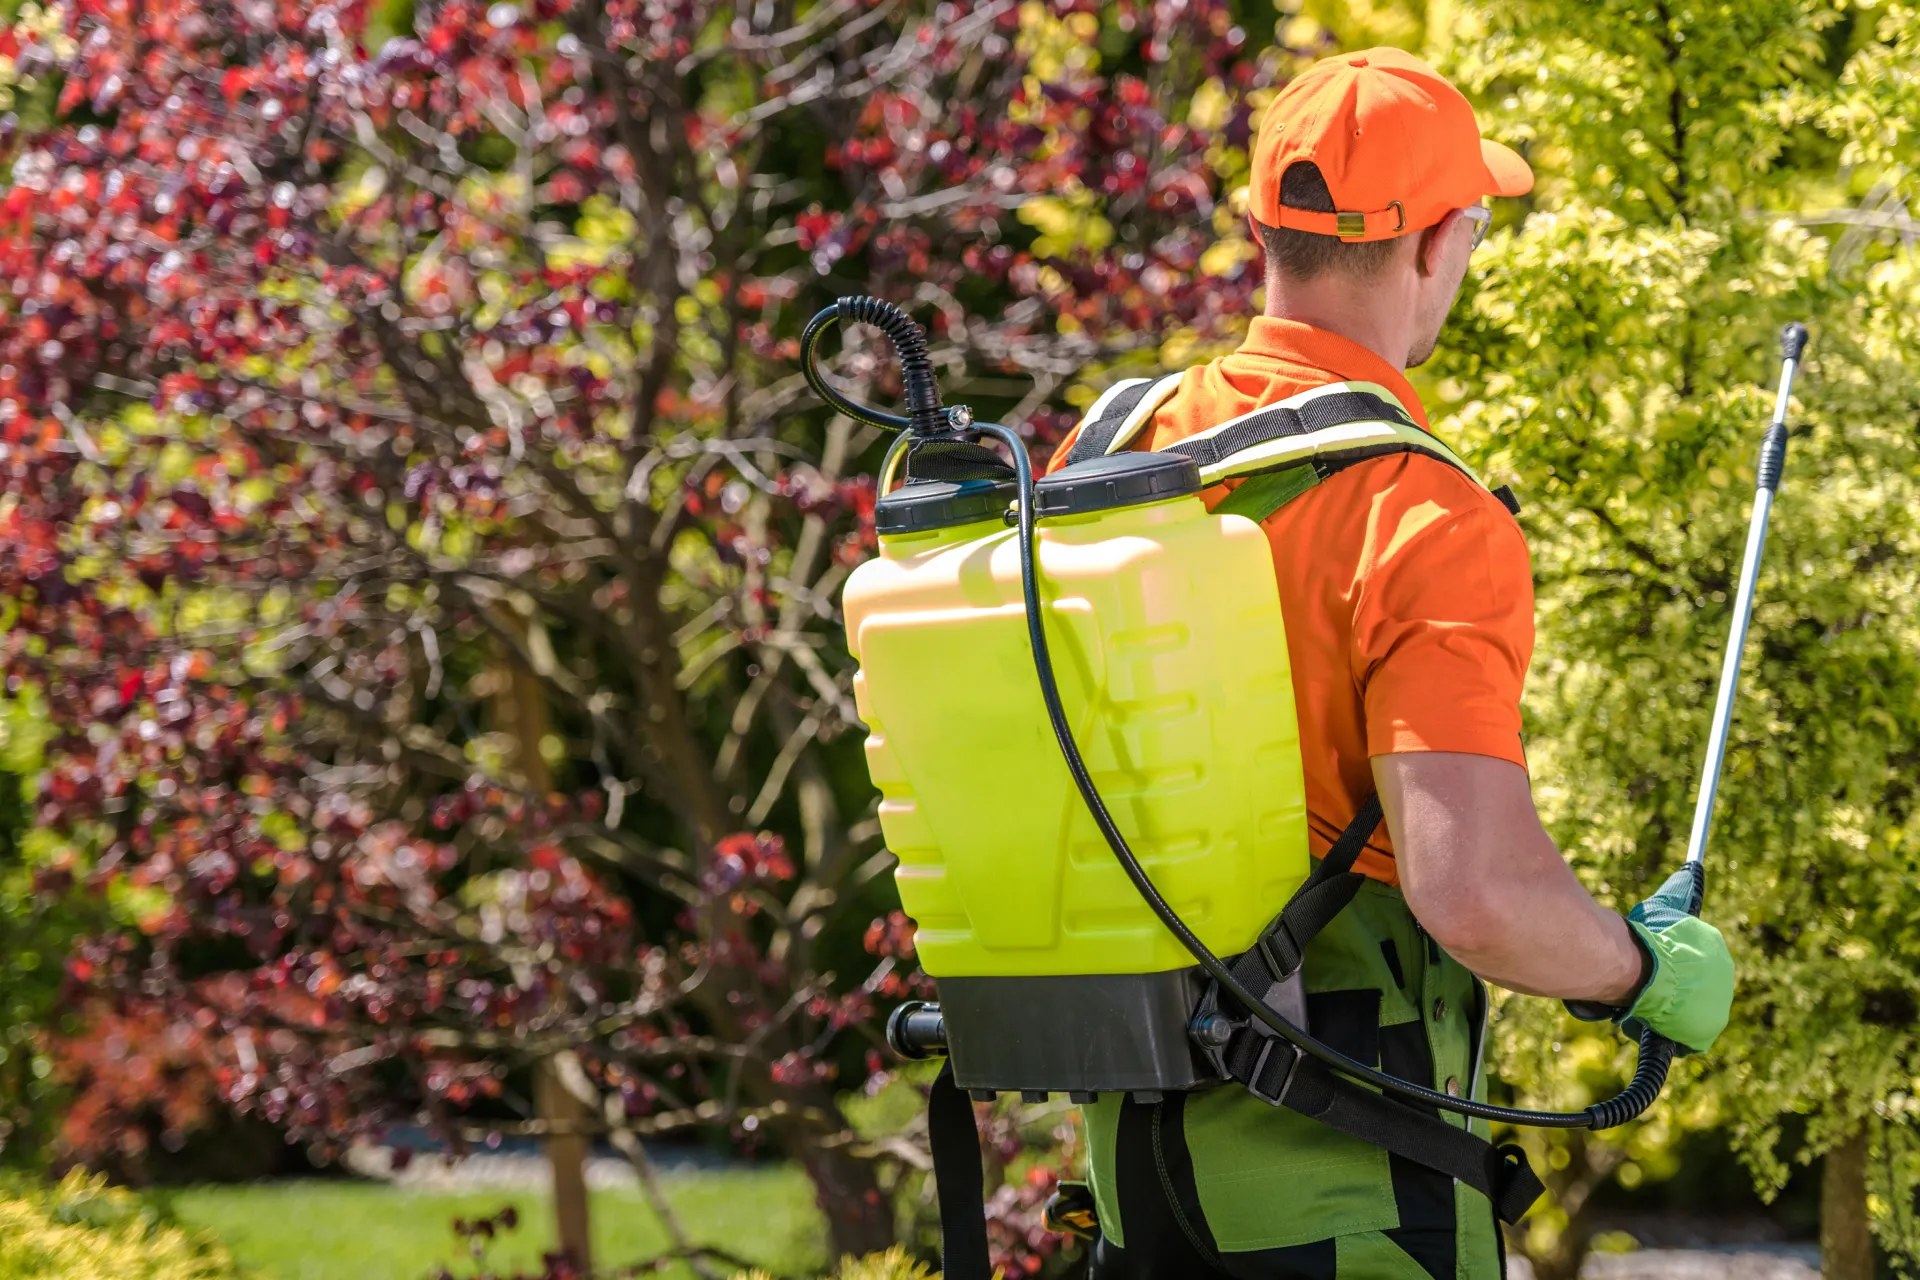
{"label": "green work glove gripping the spray wand", "polygon": [[1624,1009],[1601,1013],[1590,1002],[1569,1002],[1574,1017],[1601,1013],[1619,1019],[1620,1031],[1634,1038],[1642,1027],[1651,1027],[1688,1054],[1713,1048],[1734,1007],[1734,954],[1718,929],[1688,915],[1692,898],[1693,871],[1680,869],[1626,913],[1626,925],[1653,961],[1653,971]]}

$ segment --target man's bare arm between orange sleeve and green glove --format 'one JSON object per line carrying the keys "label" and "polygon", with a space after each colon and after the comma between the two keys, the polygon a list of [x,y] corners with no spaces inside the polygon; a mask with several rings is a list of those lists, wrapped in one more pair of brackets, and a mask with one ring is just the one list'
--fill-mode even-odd
{"label": "man's bare arm between orange sleeve and green glove", "polygon": [[1540,827],[1526,770],[1492,756],[1373,758],[1400,889],[1421,927],[1490,983],[1619,1006],[1644,979],[1626,921]]}

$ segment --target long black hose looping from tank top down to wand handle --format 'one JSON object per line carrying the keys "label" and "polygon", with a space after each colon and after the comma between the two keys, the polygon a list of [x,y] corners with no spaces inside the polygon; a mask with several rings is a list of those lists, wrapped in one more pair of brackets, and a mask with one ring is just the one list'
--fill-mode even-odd
{"label": "long black hose looping from tank top down to wand handle", "polygon": [[[866,405],[856,405],[829,388],[820,376],[816,367],[816,347],[820,344],[820,336],[829,324],[841,319],[862,319],[877,324],[893,340],[895,347],[900,351],[902,370],[906,372],[910,405],[908,418],[868,409]],[[908,351],[914,351],[918,359],[912,367],[906,363]],[[929,430],[922,428],[920,422],[931,422],[937,416],[939,424],[931,430],[947,430],[945,413],[939,409],[939,391],[933,388],[931,365],[925,361],[925,336],[918,324],[914,324],[891,303],[876,297],[843,297],[837,305],[828,307],[816,315],[801,334],[801,363],[806,374],[806,384],[814,388],[820,399],[858,422],[891,430],[920,432]],[[918,401],[914,399],[916,388]],[[1127,844],[1127,837],[1121,835],[1119,825],[1108,812],[1106,800],[1100,798],[1092,773],[1087,771],[1087,762],[1081,758],[1079,743],[1073,741],[1073,731],[1068,723],[1066,706],[1060,702],[1060,683],[1054,677],[1054,658],[1046,643],[1046,614],[1041,601],[1041,574],[1033,553],[1037,510],[1033,501],[1033,461],[1027,457],[1025,441],[1021,441],[1012,430],[996,422],[973,422],[972,430],[996,438],[1014,455],[1014,480],[1020,486],[1020,593],[1027,610],[1027,639],[1033,649],[1033,672],[1041,683],[1041,700],[1046,704],[1046,720],[1052,723],[1054,741],[1060,745],[1060,756],[1066,760],[1068,773],[1073,775],[1073,787],[1079,791],[1081,800],[1087,804],[1087,812],[1092,814],[1094,823],[1100,827],[1100,835],[1106,837],[1108,848],[1114,850],[1114,858],[1119,860],[1127,879],[1133,881],[1133,889],[1140,894],[1167,933],[1179,938],[1181,946],[1187,948],[1208,977],[1219,983],[1223,992],[1233,996],[1240,1007],[1273,1031],[1273,1034],[1281,1036],[1309,1057],[1323,1061],[1340,1075],[1373,1084],[1375,1088],[1390,1094],[1398,1094],[1400,1098],[1440,1107],[1442,1111],[1471,1115],[1482,1121],[1500,1121],[1503,1125],[1526,1125],[1530,1128],[1611,1128],[1615,1125],[1624,1125],[1653,1105],[1653,1100],[1659,1098],[1661,1088],[1667,1084],[1667,1071],[1672,1065],[1674,1044],[1651,1029],[1642,1031],[1640,1034],[1640,1063],[1634,1069],[1632,1082],[1613,1098],[1597,1102],[1584,1111],[1521,1111],[1515,1107],[1496,1107],[1492,1103],[1473,1102],[1471,1098],[1455,1098],[1452,1094],[1442,1094],[1423,1084],[1413,1084],[1411,1080],[1386,1075],[1384,1071],[1348,1057],[1336,1048],[1321,1044],[1311,1034],[1267,1007],[1254,992],[1246,990],[1246,986],[1233,977],[1233,969],[1229,969],[1227,963],[1215,956],[1192,929],[1187,927],[1187,921],[1183,921],[1173,906],[1160,896],[1160,890],[1154,889],[1154,881],[1146,875],[1146,867],[1142,867],[1140,860],[1135,858],[1133,848]]]}

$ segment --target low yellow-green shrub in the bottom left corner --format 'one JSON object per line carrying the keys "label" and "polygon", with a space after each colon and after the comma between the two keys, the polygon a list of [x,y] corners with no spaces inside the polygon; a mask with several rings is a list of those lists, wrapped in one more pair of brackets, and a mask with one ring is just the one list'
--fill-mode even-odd
{"label": "low yellow-green shrub in the bottom left corner", "polygon": [[227,1251],[98,1174],[0,1182],[0,1280],[227,1280]]}

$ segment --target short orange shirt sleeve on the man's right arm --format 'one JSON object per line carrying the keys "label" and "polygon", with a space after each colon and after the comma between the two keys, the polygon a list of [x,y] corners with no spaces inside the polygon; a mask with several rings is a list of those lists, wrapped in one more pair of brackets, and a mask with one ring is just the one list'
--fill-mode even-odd
{"label": "short orange shirt sleeve on the man's right arm", "polygon": [[1471,480],[1415,464],[1375,499],[1352,670],[1367,754],[1457,750],[1526,768],[1521,689],[1534,652],[1526,539]]}

